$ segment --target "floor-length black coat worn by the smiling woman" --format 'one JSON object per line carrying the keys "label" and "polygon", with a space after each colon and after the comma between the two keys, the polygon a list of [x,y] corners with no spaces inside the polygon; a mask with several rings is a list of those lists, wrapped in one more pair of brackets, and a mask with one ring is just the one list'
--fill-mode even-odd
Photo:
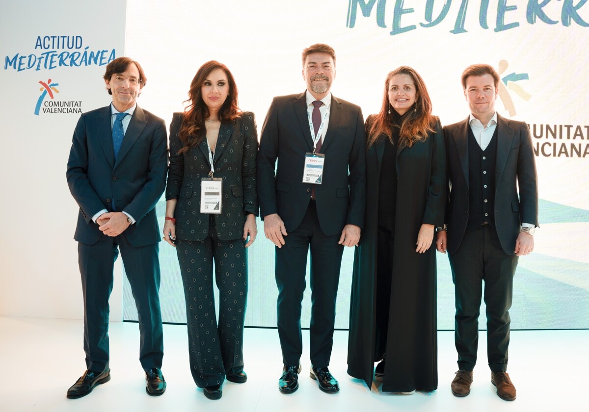
{"label": "floor-length black coat worn by the smiling woman", "polygon": [[[368,119],[367,124],[370,122]],[[372,386],[376,311],[389,310],[384,391],[432,391],[438,385],[436,341],[435,244],[415,251],[421,225],[444,224],[446,151],[442,127],[436,121],[428,139],[412,147],[402,143],[396,154],[395,243],[391,304],[376,307],[377,234],[380,165],[385,136],[366,151],[366,220],[356,249],[350,304],[348,374]],[[382,257],[380,257],[382,258]]]}

